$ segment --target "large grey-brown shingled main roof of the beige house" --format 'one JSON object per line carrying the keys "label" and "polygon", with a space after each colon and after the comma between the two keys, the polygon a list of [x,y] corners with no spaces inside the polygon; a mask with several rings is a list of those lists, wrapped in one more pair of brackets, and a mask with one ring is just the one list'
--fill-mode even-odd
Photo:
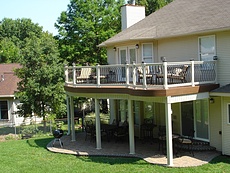
{"label": "large grey-brown shingled main roof of the beige house", "polygon": [[174,0],[99,46],[230,29],[229,0]]}

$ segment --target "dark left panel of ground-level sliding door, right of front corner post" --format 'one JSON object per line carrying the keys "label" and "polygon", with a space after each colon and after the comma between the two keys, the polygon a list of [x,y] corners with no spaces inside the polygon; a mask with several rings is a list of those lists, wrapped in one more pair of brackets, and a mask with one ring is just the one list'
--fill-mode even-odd
{"label": "dark left panel of ground-level sliding door, right of front corner post", "polygon": [[193,101],[181,103],[181,123],[182,135],[190,135],[191,130],[194,130]]}

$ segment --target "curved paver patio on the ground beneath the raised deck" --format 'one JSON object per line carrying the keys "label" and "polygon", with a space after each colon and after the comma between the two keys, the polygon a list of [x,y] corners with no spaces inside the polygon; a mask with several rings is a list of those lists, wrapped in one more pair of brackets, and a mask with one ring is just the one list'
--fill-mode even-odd
{"label": "curved paver patio on the ground beneath the raised deck", "polygon": [[[71,136],[63,136],[61,138],[64,143],[63,148],[59,143],[53,141],[47,145],[47,149],[51,152],[72,154],[76,156],[110,156],[110,157],[138,157],[144,159],[146,162],[157,165],[167,165],[167,158],[158,149],[157,142],[144,142],[135,139],[135,154],[129,154],[129,143],[126,141],[111,140],[108,142],[102,138],[102,149],[96,149],[95,140],[85,140],[85,133],[76,133],[76,141],[71,141]],[[220,155],[217,151],[194,151],[194,157],[188,151],[182,151],[174,155],[173,167],[192,167],[200,166],[208,163],[216,156]]]}

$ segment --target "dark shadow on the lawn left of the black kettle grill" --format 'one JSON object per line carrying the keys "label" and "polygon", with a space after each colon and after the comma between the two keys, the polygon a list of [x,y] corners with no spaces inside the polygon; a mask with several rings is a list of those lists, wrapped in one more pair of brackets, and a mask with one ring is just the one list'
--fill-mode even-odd
{"label": "dark shadow on the lawn left of the black kettle grill", "polygon": [[53,137],[46,137],[46,138],[30,138],[27,139],[27,144],[30,147],[36,147],[36,148],[46,148],[47,144],[52,141]]}

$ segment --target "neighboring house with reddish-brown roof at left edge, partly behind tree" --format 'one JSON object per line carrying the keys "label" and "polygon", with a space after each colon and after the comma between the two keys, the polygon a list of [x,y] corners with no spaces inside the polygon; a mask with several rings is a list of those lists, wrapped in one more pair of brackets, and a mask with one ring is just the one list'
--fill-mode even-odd
{"label": "neighboring house with reddish-brown roof at left edge, partly behind tree", "polygon": [[[14,74],[14,70],[20,67],[17,63],[0,64],[0,126],[18,126],[29,124],[31,121],[30,118],[24,119],[16,113],[20,103],[15,98],[19,78]],[[37,122],[40,121],[37,118]]]}

